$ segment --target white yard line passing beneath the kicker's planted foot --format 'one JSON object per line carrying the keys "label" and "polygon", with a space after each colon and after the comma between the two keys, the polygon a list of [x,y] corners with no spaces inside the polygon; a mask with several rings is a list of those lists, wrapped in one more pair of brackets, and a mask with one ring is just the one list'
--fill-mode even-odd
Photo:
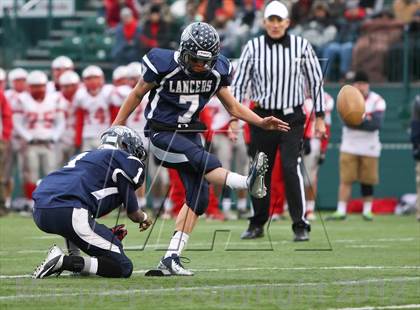
{"label": "white yard line passing beneath the kicker's planted foot", "polygon": [[[191,269],[194,272],[237,272],[237,271],[306,271],[306,270],[420,270],[420,266],[320,266],[320,267],[243,267],[243,268],[203,268]],[[134,270],[133,274],[143,274],[148,269]],[[63,274],[61,276],[65,276]],[[30,278],[29,274],[0,275],[0,279]]]}

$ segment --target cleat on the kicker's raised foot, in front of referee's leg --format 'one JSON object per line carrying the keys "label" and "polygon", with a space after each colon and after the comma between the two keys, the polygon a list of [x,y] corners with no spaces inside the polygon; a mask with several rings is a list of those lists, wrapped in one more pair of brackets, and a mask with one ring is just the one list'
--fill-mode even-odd
{"label": "cleat on the kicker's raised foot, in front of referee's leg", "polygon": [[264,176],[268,170],[268,158],[263,152],[259,152],[249,169],[247,178],[248,191],[255,198],[263,198],[267,195],[264,184]]}

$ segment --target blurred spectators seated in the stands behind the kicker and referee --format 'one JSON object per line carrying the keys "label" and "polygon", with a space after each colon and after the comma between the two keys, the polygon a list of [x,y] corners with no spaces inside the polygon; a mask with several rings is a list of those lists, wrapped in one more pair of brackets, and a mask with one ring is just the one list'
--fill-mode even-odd
{"label": "blurred spectators seated in the stands behind the kicker and referee", "polygon": [[[222,54],[238,58],[244,43],[262,32],[263,0],[104,0],[109,31],[115,36],[115,64],[138,60],[153,47],[177,48],[180,33],[193,21],[212,24]],[[289,32],[315,48],[326,80],[365,70],[373,82],[392,72],[387,63],[402,58],[403,31],[420,51],[418,0],[285,0],[291,12]],[[392,58],[392,59],[390,59]],[[418,60],[414,60],[416,63]],[[420,79],[420,72],[417,72]]]}

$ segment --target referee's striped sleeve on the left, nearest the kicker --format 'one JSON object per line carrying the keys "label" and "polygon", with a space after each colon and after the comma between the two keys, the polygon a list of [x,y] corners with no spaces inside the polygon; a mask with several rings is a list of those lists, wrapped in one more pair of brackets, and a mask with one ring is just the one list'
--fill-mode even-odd
{"label": "referee's striped sleeve on the left, nearest the kicker", "polygon": [[239,102],[243,101],[251,82],[252,67],[251,42],[248,42],[239,58],[239,64],[232,81],[233,96]]}

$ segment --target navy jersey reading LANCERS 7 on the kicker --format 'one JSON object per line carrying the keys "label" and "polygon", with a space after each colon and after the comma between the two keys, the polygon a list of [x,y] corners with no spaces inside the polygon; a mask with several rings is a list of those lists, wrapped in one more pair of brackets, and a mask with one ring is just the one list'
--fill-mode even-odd
{"label": "navy jersey reading LANCERS 7 on the kicker", "polygon": [[144,81],[157,84],[145,109],[148,120],[169,125],[194,123],[209,99],[231,83],[232,65],[223,55],[203,78],[188,76],[178,57],[179,52],[154,48],[142,59]]}

